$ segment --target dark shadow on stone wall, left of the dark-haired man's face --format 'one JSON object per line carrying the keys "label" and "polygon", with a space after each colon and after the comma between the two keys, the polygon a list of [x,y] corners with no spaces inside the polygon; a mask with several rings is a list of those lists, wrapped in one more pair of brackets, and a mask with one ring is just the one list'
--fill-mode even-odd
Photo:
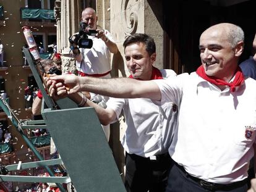
{"label": "dark shadow on stone wall, left of the dark-haired man's face", "polygon": [[120,70],[122,77],[126,77],[126,72],[124,70],[124,59],[122,58],[120,51],[113,56],[111,77],[119,77],[118,70]]}

